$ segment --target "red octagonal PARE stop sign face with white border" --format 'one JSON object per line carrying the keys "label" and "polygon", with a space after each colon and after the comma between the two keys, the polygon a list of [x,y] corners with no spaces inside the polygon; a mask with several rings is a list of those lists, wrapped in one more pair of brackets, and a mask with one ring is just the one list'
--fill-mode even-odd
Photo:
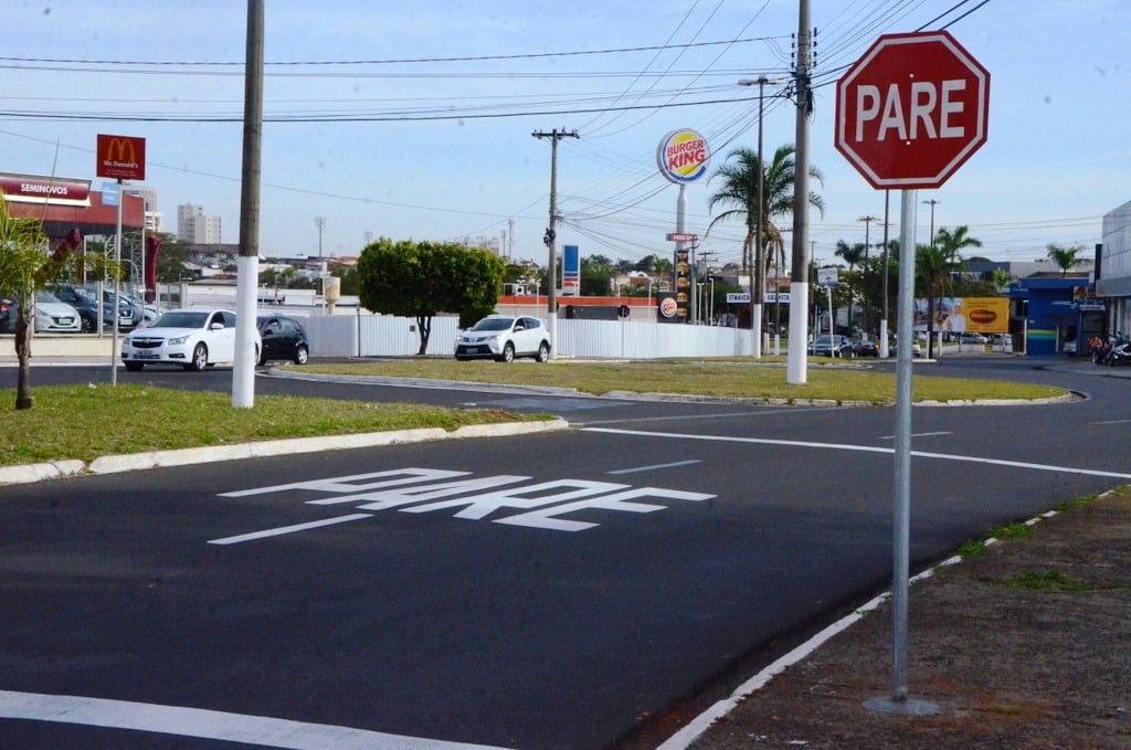
{"label": "red octagonal PARE stop sign face with white border", "polygon": [[837,83],[836,147],[873,188],[938,188],[988,110],[990,72],[950,34],[886,34]]}

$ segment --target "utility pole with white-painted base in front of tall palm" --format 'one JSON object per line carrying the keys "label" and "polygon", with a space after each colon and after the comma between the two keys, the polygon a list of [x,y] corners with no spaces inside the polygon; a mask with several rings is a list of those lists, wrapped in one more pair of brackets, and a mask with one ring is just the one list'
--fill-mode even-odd
{"label": "utility pole with white-painted base in front of tall palm", "polygon": [[[800,0],[797,14],[797,133],[794,144],[793,178],[793,271],[789,279],[789,352],[786,359],[786,382],[798,386],[806,381],[806,345],[809,339],[809,90],[812,37],[809,28],[809,0]],[[801,277],[798,279],[798,276]]]}

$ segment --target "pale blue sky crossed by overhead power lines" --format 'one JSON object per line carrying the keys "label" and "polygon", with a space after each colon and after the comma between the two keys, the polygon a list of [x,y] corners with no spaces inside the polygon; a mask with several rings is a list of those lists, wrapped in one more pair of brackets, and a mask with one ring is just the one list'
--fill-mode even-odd
{"label": "pale blue sky crossed by overhead power lines", "polygon": [[[545,265],[551,138],[558,243],[584,256],[671,257],[679,187],[665,135],[706,137],[685,231],[739,261],[710,175],[757,149],[758,87],[788,80],[798,0],[267,0],[262,257],[354,256],[366,241],[480,238]],[[146,139],[145,186],[165,229],[201,206],[239,241],[247,5],[12,0],[0,26],[0,172],[94,181],[98,133]],[[879,242],[886,193],[834,147],[836,81],[880,34],[946,28],[991,74],[987,143],[916,193],[916,238],[969,227],[977,255],[1090,256],[1105,213],[1131,200],[1131,3],[1126,0],[811,0],[817,29],[812,257]],[[765,88],[763,153],[795,139],[787,87]],[[576,131],[577,137],[572,133]],[[889,232],[899,236],[900,193]],[[936,201],[933,205],[924,200]],[[861,222],[872,215],[878,222]],[[325,219],[321,231],[318,218]],[[785,227],[792,219],[783,221]]]}

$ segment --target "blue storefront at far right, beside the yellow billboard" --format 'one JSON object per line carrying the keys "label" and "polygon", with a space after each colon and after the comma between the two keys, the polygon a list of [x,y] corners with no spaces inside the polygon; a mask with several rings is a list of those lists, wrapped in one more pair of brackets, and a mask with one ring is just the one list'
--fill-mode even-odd
{"label": "blue storefront at far right, beside the yellow billboard", "polygon": [[[1030,276],[1009,287],[1013,320],[1029,356],[1085,353],[1087,340],[1103,336],[1106,305],[1087,277]],[[1018,326],[1015,326],[1015,328]]]}

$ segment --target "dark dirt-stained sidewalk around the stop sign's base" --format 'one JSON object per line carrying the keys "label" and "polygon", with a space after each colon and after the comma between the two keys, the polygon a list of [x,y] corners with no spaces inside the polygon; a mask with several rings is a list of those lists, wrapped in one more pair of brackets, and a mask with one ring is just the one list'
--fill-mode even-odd
{"label": "dark dirt-stained sidewalk around the stop sign's base", "polygon": [[714,724],[697,707],[679,734],[679,726],[666,727],[670,739],[659,748],[1126,750],[1129,540],[1131,488],[1123,488],[1043,516],[1031,536],[991,543],[984,554],[915,583],[908,697],[933,704],[933,716],[864,707],[892,695],[884,600],[815,650],[801,647],[795,660],[779,660],[795,663],[779,664],[776,676],[740,686],[714,706],[720,715]]}

